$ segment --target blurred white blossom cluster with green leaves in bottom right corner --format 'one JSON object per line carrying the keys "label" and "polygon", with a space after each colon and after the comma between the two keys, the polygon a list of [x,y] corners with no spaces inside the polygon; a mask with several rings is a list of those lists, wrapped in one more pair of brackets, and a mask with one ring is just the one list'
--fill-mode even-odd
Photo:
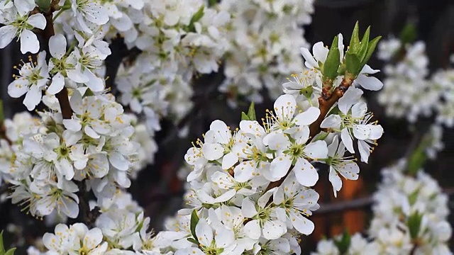
{"label": "blurred white blossom cluster with green leaves in bottom right corner", "polygon": [[[374,194],[368,239],[354,234],[322,240],[314,255],[328,254],[452,254],[448,242],[448,196],[424,171],[404,174],[406,160],[382,170]],[[341,253],[347,248],[346,253]]]}

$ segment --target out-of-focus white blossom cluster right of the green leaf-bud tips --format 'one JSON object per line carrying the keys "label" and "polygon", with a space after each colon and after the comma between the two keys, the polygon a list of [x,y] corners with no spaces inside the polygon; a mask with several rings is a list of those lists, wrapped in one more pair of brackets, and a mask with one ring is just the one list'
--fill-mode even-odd
{"label": "out-of-focus white blossom cluster right of the green leaf-bud tips", "polygon": [[438,123],[452,127],[453,70],[440,70],[428,77],[426,45],[421,41],[403,44],[392,38],[379,46],[379,57],[388,62],[384,67],[384,90],[378,97],[386,114],[406,118],[410,123],[435,115]]}

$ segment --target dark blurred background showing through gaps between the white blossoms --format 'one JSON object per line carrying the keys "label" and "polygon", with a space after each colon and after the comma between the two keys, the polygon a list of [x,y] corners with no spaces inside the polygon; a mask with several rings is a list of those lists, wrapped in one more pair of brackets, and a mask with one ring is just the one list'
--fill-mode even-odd
{"label": "dark blurred background showing through gaps between the white blossoms", "polygon": [[[372,26],[371,37],[382,35],[399,35],[407,23],[416,26],[417,40],[426,42],[431,72],[446,68],[450,64],[450,55],[454,53],[454,1],[452,0],[316,0],[313,21],[305,27],[306,40],[311,44],[323,41],[331,42],[334,35],[343,33],[344,38],[350,38],[351,30],[356,21],[360,21],[360,34],[367,26]],[[298,36],[298,35],[295,35]],[[112,45],[113,55],[108,63],[119,63],[124,54],[121,42]],[[11,82],[14,64],[20,62],[19,45],[11,45],[0,51],[0,95],[4,101],[6,118],[14,113],[26,111],[21,99],[10,98],[7,86]],[[302,61],[302,59],[301,59]],[[383,63],[372,57],[370,65],[381,69]],[[191,142],[201,137],[209,129],[209,124],[216,118],[221,118],[228,125],[235,127],[240,121],[241,111],[245,111],[248,102],[239,104],[232,110],[226,103],[226,96],[217,91],[217,84],[223,79],[223,72],[200,77],[194,84],[194,108],[188,118],[181,123],[163,120],[162,130],[157,133],[159,151],[155,155],[155,164],[140,171],[138,179],[133,181],[130,192],[133,198],[145,209],[145,215],[151,218],[155,231],[162,229],[166,217],[175,215],[182,207],[184,182],[178,178],[184,154]],[[112,77],[112,75],[110,75]],[[113,78],[113,77],[112,77]],[[382,79],[383,77],[378,77]],[[112,79],[113,80],[113,79]],[[328,181],[328,171],[321,171],[321,177],[316,190],[321,194],[319,203],[321,209],[315,212],[311,219],[316,222],[316,230],[309,238],[302,240],[304,251],[314,251],[316,242],[321,237],[332,237],[344,229],[349,232],[363,232],[370,220],[370,195],[376,190],[380,181],[380,169],[404,157],[409,149],[418,142],[421,135],[432,123],[430,118],[419,120],[409,128],[406,120],[385,118],[384,109],[377,103],[377,93],[366,93],[370,111],[383,126],[385,132],[380,144],[370,157],[369,164],[360,164],[359,181],[343,181],[343,188],[336,200],[332,195],[331,183]],[[380,93],[380,92],[379,92]],[[263,116],[265,109],[272,108],[272,100],[263,92],[265,101],[256,106],[258,118]],[[178,137],[179,128],[186,126],[189,135]],[[454,194],[454,130],[445,130],[443,134],[445,149],[438,154],[436,161],[425,165],[426,171],[440,182],[440,185]],[[450,210],[454,209],[454,196],[450,196]],[[33,242],[37,236],[42,236],[53,227],[46,227],[44,222],[36,222],[21,212],[21,208],[10,203],[0,204],[0,229],[6,229],[9,223],[23,228],[26,242]],[[450,216],[453,225],[454,217]],[[23,244],[24,247],[28,246]],[[454,250],[454,240],[451,242]],[[24,251],[24,250],[22,250]],[[18,254],[22,254],[19,250]]]}

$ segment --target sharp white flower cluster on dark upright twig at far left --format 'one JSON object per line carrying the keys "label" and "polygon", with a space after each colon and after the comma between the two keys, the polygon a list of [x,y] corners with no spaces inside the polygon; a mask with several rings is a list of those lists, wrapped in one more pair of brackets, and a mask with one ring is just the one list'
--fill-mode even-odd
{"label": "sharp white flower cluster on dark upright twig at far left", "polygon": [[[53,29],[52,11],[57,10],[53,19],[67,22],[54,34],[59,30]],[[1,28],[6,33],[1,35],[2,47],[17,35],[23,52],[36,53],[40,45],[30,38],[36,38],[30,30],[46,28],[41,32],[48,50],[15,67],[18,74],[8,93],[14,98],[25,94],[23,104],[29,111],[41,102],[48,111],[38,111],[39,118],[21,113],[5,120],[6,140],[1,140],[0,179],[11,184],[12,202],[35,217],[55,212],[77,217],[81,193],[112,198],[116,188],[128,188],[130,175],[150,160],[144,150],[156,150],[153,140],[134,135],[143,124],[134,127],[135,118],[106,91],[103,62],[111,50],[103,26],[109,25],[108,11],[98,1],[1,5],[7,25]],[[22,40],[26,37],[29,40]]]}

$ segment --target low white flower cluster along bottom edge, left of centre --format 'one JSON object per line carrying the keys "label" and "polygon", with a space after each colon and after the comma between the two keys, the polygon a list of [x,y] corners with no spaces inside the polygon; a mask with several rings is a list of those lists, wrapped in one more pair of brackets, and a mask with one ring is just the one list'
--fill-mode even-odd
{"label": "low white flower cluster along bottom edge, left of centre", "polygon": [[90,205],[101,208],[94,227],[59,224],[55,234],[44,234],[42,245],[37,245],[44,246],[47,253],[31,246],[28,254],[165,254],[159,250],[162,238],[148,232],[150,218],[144,217],[131,194],[120,191],[111,199]]}

